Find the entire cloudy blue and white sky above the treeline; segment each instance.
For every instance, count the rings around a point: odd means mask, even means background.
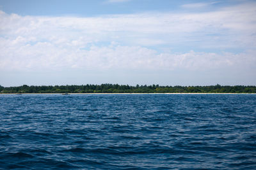
[[[256,1],[0,0],[0,85],[256,85]]]

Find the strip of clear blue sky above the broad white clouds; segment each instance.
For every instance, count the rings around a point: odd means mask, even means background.
[[[218,6],[228,6],[239,3],[239,1],[172,1],[172,0],[120,0],[120,1],[83,1],[83,0],[54,0],[54,1],[33,1],[33,0],[7,0],[1,1],[2,10],[6,13],[17,13],[19,15],[77,15],[91,17],[109,14],[141,13],[141,11],[188,11],[183,8],[184,4],[214,4],[210,9]],[[204,6],[205,7],[205,6]],[[208,8],[208,9],[209,9]],[[191,9],[189,9],[191,10]],[[194,9],[195,10],[195,9]],[[198,9],[197,9],[198,10]],[[206,9],[199,9],[204,11]]]

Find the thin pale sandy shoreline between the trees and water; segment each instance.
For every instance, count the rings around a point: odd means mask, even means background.
[[[2,95],[22,95],[22,94],[12,93],[12,94],[2,94]],[[38,95],[38,94],[63,95],[62,93],[24,93],[24,94],[25,95],[28,95],[28,94],[33,94],[33,95]],[[68,93],[68,95],[79,95],[79,94],[80,95],[86,95],[86,94],[91,95],[91,94],[256,94],[256,93]]]

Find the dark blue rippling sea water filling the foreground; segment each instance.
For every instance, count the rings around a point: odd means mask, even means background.
[[[256,169],[256,95],[1,95],[0,169]]]

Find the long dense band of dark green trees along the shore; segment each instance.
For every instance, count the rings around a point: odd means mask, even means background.
[[[3,87],[0,94],[16,93],[256,93],[256,86],[159,86],[159,85],[55,85]]]

